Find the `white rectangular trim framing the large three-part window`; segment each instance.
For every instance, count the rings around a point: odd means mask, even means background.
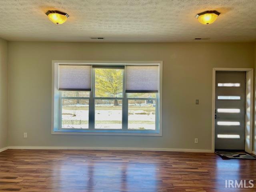
[[[159,65],[159,133],[134,133],[134,132],[74,132],[74,131],[57,131],[56,126],[58,126],[59,122],[54,122],[54,119],[58,119],[58,114],[55,112],[55,108],[58,108],[59,103],[56,102],[56,97],[58,100],[58,73],[55,73],[58,70],[59,63],[64,64],[93,64],[93,65]],[[120,136],[162,136],[162,61],[73,61],[73,60],[52,60],[52,134],[61,134],[61,135],[120,135]],[[55,106],[57,105],[57,106]],[[55,106],[55,107],[54,107]],[[56,117],[57,116],[57,117]]]

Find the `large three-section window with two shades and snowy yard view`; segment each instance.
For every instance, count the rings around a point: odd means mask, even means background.
[[[161,135],[161,62],[53,62],[52,134]]]

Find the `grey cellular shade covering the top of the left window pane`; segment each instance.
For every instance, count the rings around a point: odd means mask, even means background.
[[[59,90],[91,91],[92,66],[59,65]]]

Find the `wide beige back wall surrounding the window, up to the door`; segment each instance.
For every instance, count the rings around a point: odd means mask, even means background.
[[[163,136],[51,135],[52,60],[162,60]],[[9,146],[211,150],[214,67],[253,68],[254,44],[10,42]]]

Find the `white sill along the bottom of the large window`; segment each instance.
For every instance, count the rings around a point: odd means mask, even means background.
[[[162,136],[162,133],[158,132],[145,132],[145,131],[136,131],[136,132],[110,132],[107,130],[98,130],[98,132],[90,130],[82,131],[70,131],[70,130],[56,130],[52,131],[52,135],[119,135],[119,136]]]

